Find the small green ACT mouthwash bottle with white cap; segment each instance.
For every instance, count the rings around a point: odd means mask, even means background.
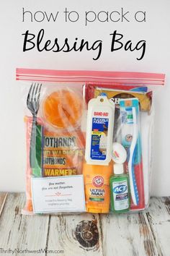
[[[122,163],[114,164],[114,175],[109,179],[111,193],[111,211],[125,213],[130,208],[128,175],[124,174]]]

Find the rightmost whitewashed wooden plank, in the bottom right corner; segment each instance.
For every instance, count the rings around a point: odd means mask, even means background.
[[[146,216],[151,226],[158,255],[170,255],[170,197],[151,198]]]

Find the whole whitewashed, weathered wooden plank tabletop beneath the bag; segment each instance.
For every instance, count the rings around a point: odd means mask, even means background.
[[[122,215],[24,216],[24,201],[0,193],[0,255],[170,256],[170,197]]]

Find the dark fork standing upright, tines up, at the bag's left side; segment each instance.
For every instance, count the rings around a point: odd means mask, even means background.
[[[40,90],[42,84],[32,83],[27,95],[27,108],[32,114],[32,131],[30,141],[30,167],[36,166],[36,135],[37,135],[37,112],[40,107]]]

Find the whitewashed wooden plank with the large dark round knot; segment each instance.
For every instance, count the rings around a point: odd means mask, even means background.
[[[51,216],[48,249],[56,245],[57,249],[64,250],[64,255],[103,255],[99,216]]]

